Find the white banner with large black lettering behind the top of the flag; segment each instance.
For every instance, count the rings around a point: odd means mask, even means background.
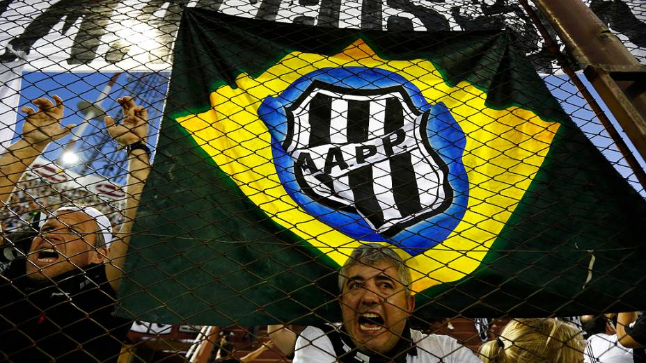
[[[643,61],[643,0],[586,0]],[[3,0],[0,62],[27,53],[26,70],[120,72],[169,70],[185,6],[241,17],[362,29],[473,30],[506,27],[543,72],[553,57],[521,6],[501,0]]]

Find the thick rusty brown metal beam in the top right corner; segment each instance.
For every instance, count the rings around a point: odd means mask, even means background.
[[[581,0],[534,0],[646,160],[646,67]]]

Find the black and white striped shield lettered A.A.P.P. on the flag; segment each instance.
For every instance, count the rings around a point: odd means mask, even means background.
[[[287,108],[283,144],[300,188],[392,236],[446,209],[447,166],[430,147],[428,113],[402,86],[357,90],[315,81]]]

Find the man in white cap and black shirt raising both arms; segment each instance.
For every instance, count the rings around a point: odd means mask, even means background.
[[[17,182],[47,145],[68,134],[61,126],[63,100],[24,107],[22,137],[0,156],[0,198],[7,202]],[[113,139],[129,160],[125,223],[111,223],[94,207],[56,209],[39,223],[28,253],[1,266],[0,357],[10,362],[116,362],[131,322],[113,316],[129,231],[150,170],[145,147],[148,114],[131,97],[118,99],[124,119],[106,118]],[[13,248],[7,245],[5,248]],[[3,254],[20,255],[20,254]]]

